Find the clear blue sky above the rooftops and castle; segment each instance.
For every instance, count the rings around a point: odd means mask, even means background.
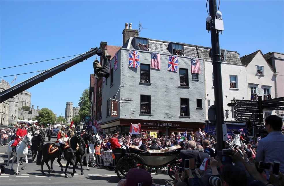
[[[222,49],[240,57],[261,50],[284,53],[284,1],[221,1]],[[206,1],[0,1],[0,67],[77,55],[101,41],[122,46],[126,22],[143,29],[141,37],[211,47],[205,30]],[[27,91],[32,105],[65,114],[77,106],[94,72],[91,57]],[[54,67],[70,58],[0,71],[0,76]],[[18,75],[16,83],[33,74]],[[4,80],[12,82],[14,76]],[[12,85],[14,85],[13,83]],[[134,90],[133,90],[134,91]]]

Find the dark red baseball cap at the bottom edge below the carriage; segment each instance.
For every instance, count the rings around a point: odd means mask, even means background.
[[[151,174],[143,169],[133,168],[126,174],[126,182],[124,186],[152,186]]]

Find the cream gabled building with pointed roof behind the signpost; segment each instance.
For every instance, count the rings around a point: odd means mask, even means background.
[[[274,69],[264,58],[260,50],[240,58],[246,65],[248,98],[258,100],[257,88],[263,90],[262,100],[275,98],[275,75]],[[273,110],[264,110],[264,118],[274,115]]]

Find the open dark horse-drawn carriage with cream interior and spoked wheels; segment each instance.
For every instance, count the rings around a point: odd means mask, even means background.
[[[182,147],[175,145],[162,150],[149,150],[143,151],[138,148],[138,146],[130,145],[129,152],[125,149],[115,149],[113,153],[115,158],[118,160],[115,172],[119,179],[126,177],[127,172],[132,168],[163,168],[168,166],[168,174],[174,179],[172,175],[172,170],[178,169],[177,155],[182,150]]]

